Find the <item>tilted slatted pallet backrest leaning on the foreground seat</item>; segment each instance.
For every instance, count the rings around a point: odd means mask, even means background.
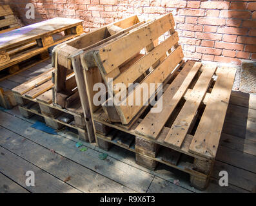
[[[155,92],[148,91],[148,98],[143,97],[141,93],[139,105],[130,106],[129,100],[133,93],[141,90],[144,84],[149,88],[152,82],[155,83],[157,91],[157,84],[165,82],[181,63],[182,48],[178,44],[179,37],[173,26],[175,23],[172,14],[163,15],[83,54],[84,69],[90,68],[91,59],[94,57],[95,66],[101,71],[104,83],[108,86],[110,99],[103,103],[103,109],[112,122],[129,124]],[[169,32],[170,36],[159,44],[159,37],[166,32]],[[146,54],[141,53],[143,49]],[[109,82],[110,78],[113,82]],[[128,93],[129,84],[136,82],[141,83],[141,86]],[[125,88],[121,90],[119,84]],[[126,97],[118,104],[117,98],[122,92]],[[132,98],[135,102],[135,96]],[[108,106],[109,101],[113,101],[114,108]]]

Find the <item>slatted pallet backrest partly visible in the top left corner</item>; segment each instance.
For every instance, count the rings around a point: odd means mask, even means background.
[[[0,5],[0,34],[20,28],[9,5]]]

